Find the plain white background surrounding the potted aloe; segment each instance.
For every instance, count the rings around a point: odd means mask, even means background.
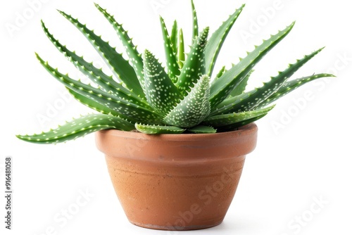
[[[35,12],[30,10],[32,1],[6,1],[0,9],[0,182],[4,185],[5,157],[12,156],[14,191],[13,230],[4,229],[1,219],[1,234],[179,234],[141,229],[127,221],[111,186],[103,154],[94,145],[94,135],[56,146],[27,144],[15,138],[15,134],[56,127],[89,112],[73,99],[63,99],[60,94],[65,94],[65,89],[37,62],[34,51],[61,71],[81,76],[46,39],[41,18],[63,44],[96,65],[102,64],[99,55],[56,8],[80,18],[118,50],[121,48],[92,1],[37,1],[41,4],[32,6]],[[200,27],[209,25],[213,30],[246,3],[217,68],[237,63],[254,44],[296,20],[289,36],[258,64],[251,85],[268,80],[288,63],[322,46],[326,46],[325,50],[294,77],[334,72],[337,78],[298,89],[257,122],[258,146],[248,155],[225,221],[213,229],[182,234],[352,234],[352,128],[347,111],[351,107],[352,15],[348,1],[194,1]],[[158,14],[168,25],[180,19],[189,42],[189,0],[97,2],[124,23],[139,51],[148,48],[163,60]],[[274,7],[275,11],[268,11]],[[22,24],[19,15],[27,17]],[[17,28],[11,32],[8,27]],[[4,186],[0,188],[5,191]],[[83,191],[90,197],[72,219],[64,221],[61,212],[77,209],[74,204]],[[324,202],[320,207],[315,205],[319,212],[313,213],[310,208],[316,200]],[[1,196],[1,217],[4,205]],[[302,216],[299,224],[296,220]]]

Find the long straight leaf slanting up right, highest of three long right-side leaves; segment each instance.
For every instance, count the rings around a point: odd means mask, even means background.
[[[210,87],[210,106],[212,110],[230,95],[232,90],[251,72],[256,63],[289,34],[292,27],[294,27],[294,23],[289,25],[285,30],[279,31],[279,33],[270,37],[270,39],[265,40],[260,46],[256,46],[256,49],[248,53],[246,58],[242,59],[237,65],[234,65],[212,84]]]

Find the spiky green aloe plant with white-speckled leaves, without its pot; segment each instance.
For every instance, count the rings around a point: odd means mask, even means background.
[[[95,6],[115,30],[128,60],[79,20],[63,11],[58,12],[82,32],[109,65],[113,76],[106,75],[101,68],[96,68],[93,63],[61,44],[43,21],[42,28],[54,46],[96,86],[74,80],[59,72],[37,53],[36,56],[77,101],[98,113],[84,115],[49,132],[18,135],[18,138],[39,144],[55,144],[101,129],[137,129],[146,134],[227,132],[263,118],[274,108],[272,102],[303,84],[320,77],[333,77],[329,74],[314,74],[289,80],[299,68],[322,51],[319,49],[289,64],[286,70],[271,77],[262,87],[246,90],[253,67],[289,34],[294,23],[264,40],[232,68],[223,67],[214,75],[222,44],[244,5],[208,37],[208,27],[199,31],[196,9],[191,1],[193,27],[188,53],[184,50],[183,32],[178,29],[177,21],[169,33],[161,17],[165,68],[151,51],[139,53],[127,31],[114,16],[98,4]]]

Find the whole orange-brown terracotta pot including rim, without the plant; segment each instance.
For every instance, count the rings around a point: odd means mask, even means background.
[[[104,130],[96,145],[132,224],[191,230],[224,220],[258,129],[217,134],[147,135]]]

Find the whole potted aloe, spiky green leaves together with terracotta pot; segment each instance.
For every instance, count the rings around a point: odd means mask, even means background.
[[[128,60],[79,20],[59,13],[84,34],[114,76],[63,46],[44,22],[43,30],[54,46],[95,85],[73,80],[36,55],[77,101],[98,113],[50,132],[18,138],[57,144],[96,132],[96,145],[106,155],[113,186],[130,222],[169,230],[220,224],[237,189],[246,154],[256,146],[253,122],[294,89],[321,77],[334,77],[314,74],[289,80],[322,49],[290,64],[262,87],[247,90],[254,66],[289,34],[294,23],[256,46],[236,65],[214,73],[222,44],[244,6],[208,37],[208,27],[199,32],[191,1],[194,20],[188,53],[177,21],[169,33],[160,18],[166,68],[150,51],[139,53],[113,15],[95,6],[115,29]]]

